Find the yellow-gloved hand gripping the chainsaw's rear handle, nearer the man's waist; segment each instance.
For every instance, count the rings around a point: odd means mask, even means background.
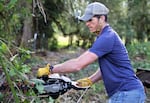
[[[92,81],[88,77],[77,80],[77,85],[80,87],[88,87],[91,86],[92,84],[93,84]]]

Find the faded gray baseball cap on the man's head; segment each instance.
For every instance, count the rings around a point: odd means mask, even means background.
[[[78,19],[81,21],[88,21],[94,15],[107,15],[109,9],[102,3],[94,2],[87,6],[85,9],[84,15],[79,17]]]

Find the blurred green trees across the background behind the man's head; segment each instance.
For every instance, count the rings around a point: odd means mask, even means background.
[[[44,48],[57,49],[56,41],[51,42],[49,39],[55,39],[55,34],[63,34],[70,38],[69,46],[80,46],[88,48],[94,41],[85,24],[77,20],[77,16],[83,14],[88,3],[95,0],[43,0],[43,8],[46,13],[47,23],[45,24],[43,15],[38,7],[35,9],[35,16],[38,19],[37,27],[33,26],[32,31],[38,32],[38,48],[41,48],[42,35],[45,34],[46,41]],[[104,3],[109,9],[108,22],[125,40],[130,44],[133,39],[150,40],[149,33],[149,0],[97,0]],[[0,37],[6,40],[14,41],[20,44],[22,37],[23,21],[26,17],[31,17],[32,0],[1,0],[0,1]],[[65,5],[65,6],[63,6]],[[143,12],[144,11],[144,12]],[[34,17],[33,17],[34,18]],[[34,23],[35,21],[33,21]],[[30,23],[31,24],[31,23]],[[55,26],[53,25],[55,24]],[[35,25],[35,23],[34,23]],[[58,28],[56,30],[56,28]],[[36,29],[36,30],[35,30]],[[75,36],[75,38],[73,38]],[[75,42],[72,42],[75,41]],[[51,42],[51,43],[48,43]],[[54,43],[54,44],[53,44]],[[72,44],[74,43],[74,44]]]

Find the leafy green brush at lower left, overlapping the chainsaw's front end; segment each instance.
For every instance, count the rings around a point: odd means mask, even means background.
[[[11,48],[16,48],[17,54],[13,55]],[[0,100],[3,102],[8,102],[11,100],[12,103],[41,103],[37,94],[33,91],[32,87],[30,89],[30,83],[35,84],[35,88],[38,90],[38,93],[44,93],[44,87],[42,83],[44,81],[39,79],[30,79],[29,75],[33,76],[31,68],[26,64],[31,59],[31,53],[29,50],[15,47],[14,45],[8,46],[7,43],[0,40],[0,66],[2,71],[6,76],[6,83],[8,83],[11,91],[0,92]],[[33,76],[34,77],[34,76]],[[27,92],[23,92],[21,88],[18,88],[18,83],[22,85],[29,86]],[[8,98],[8,96],[13,96],[13,98]],[[20,96],[21,95],[21,96]],[[45,102],[53,103],[52,98],[48,98]]]

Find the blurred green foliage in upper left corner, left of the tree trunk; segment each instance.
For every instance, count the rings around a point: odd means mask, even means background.
[[[0,0],[0,37],[7,41],[20,44],[23,28],[23,20],[31,15],[29,8],[25,8],[26,2],[32,0]]]

